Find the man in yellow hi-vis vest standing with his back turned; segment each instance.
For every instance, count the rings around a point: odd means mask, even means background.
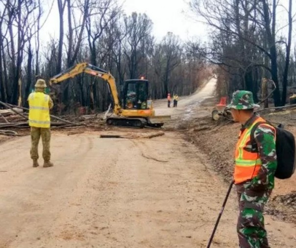
[[[29,94],[29,126],[31,127],[31,158],[33,167],[38,167],[38,144],[40,136],[43,144],[43,167],[51,167],[50,162],[50,115],[49,110],[53,102],[49,95],[44,93],[46,82],[38,79],[35,84],[35,92]]]

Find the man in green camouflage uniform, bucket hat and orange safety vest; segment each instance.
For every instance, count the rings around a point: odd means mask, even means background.
[[[237,223],[240,248],[269,248],[263,209],[274,187],[275,129],[254,114],[256,107],[259,106],[254,104],[252,92],[246,90],[235,91],[228,105],[234,121],[242,124],[234,172],[240,210]],[[252,142],[250,134],[256,122],[260,124]]]

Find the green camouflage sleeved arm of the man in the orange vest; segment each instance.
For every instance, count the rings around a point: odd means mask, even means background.
[[[274,173],[277,166],[274,130],[268,124],[261,124],[257,127],[254,138],[258,146],[262,166],[258,175],[251,181],[250,187],[254,190],[272,189],[274,187]]]

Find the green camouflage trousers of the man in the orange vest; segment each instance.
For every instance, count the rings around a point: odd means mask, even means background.
[[[237,232],[240,248],[270,248],[267,232],[264,227],[263,209],[267,203],[271,189],[248,189],[250,182],[237,184],[240,214]]]

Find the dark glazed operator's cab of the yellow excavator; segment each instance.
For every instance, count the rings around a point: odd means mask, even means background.
[[[146,110],[148,109],[149,81],[144,79],[125,80],[123,85],[123,109]]]

